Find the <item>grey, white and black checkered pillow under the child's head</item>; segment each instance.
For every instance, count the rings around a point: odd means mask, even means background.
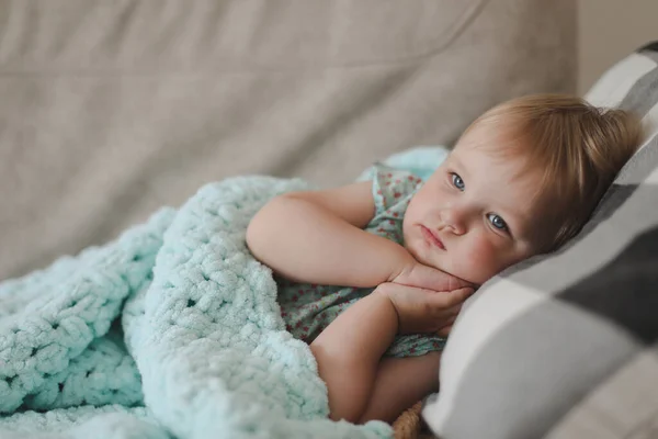
[[[658,438],[658,42],[586,98],[646,140],[578,237],[465,305],[423,408],[442,438]]]

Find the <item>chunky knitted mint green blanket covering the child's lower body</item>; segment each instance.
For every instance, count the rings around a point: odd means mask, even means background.
[[[305,188],[208,184],[114,243],[0,283],[0,437],[390,437],[327,419],[315,359],[246,247],[251,216]]]

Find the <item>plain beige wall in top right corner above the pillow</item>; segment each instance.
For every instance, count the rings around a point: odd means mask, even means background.
[[[578,0],[578,90],[638,46],[658,40],[658,0]]]

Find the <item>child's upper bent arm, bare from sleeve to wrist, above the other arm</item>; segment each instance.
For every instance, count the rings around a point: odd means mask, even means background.
[[[284,194],[252,218],[247,244],[293,281],[376,286],[415,260],[402,246],[363,230],[374,213],[372,181]]]

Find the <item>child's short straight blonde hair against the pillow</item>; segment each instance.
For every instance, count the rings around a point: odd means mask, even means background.
[[[551,237],[544,251],[574,237],[631,158],[640,137],[639,120],[619,109],[595,108],[568,94],[533,94],[487,111],[480,124],[511,123],[511,151],[542,169],[541,194],[553,196]],[[466,133],[465,132],[465,133]],[[555,227],[555,229],[553,229]]]

